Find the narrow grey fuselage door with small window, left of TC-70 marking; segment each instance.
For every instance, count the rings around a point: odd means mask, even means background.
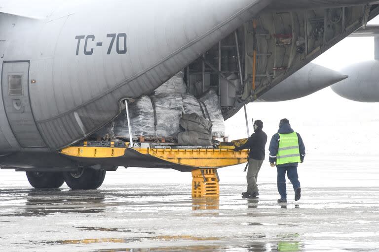
[[[28,61],[2,64],[2,98],[9,125],[19,144],[45,147],[29,99],[29,64]]]

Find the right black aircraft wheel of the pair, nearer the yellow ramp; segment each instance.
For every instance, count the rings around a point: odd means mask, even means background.
[[[65,172],[63,177],[71,189],[98,189],[103,184],[105,170],[81,168],[77,172]]]

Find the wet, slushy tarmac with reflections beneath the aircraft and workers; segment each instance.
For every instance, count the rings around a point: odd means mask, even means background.
[[[189,174],[188,183],[163,183],[178,174],[170,170],[150,172],[164,174],[162,183],[123,182],[146,170],[118,170],[89,191],[31,189],[24,174],[0,171],[1,251],[379,251],[377,168],[305,168],[302,199],[287,185],[287,204],[276,203],[269,168],[260,198],[241,199],[244,174],[237,167],[233,177],[235,169],[221,172],[220,199],[192,199]]]

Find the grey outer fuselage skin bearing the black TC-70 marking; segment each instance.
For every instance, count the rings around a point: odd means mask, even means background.
[[[123,99],[151,93],[265,10],[375,2],[92,0],[51,3],[41,19],[0,13],[0,165],[43,165],[42,154],[86,138],[120,113]]]

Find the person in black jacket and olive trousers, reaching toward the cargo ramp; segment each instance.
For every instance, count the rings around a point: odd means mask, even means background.
[[[259,195],[257,178],[265,160],[265,146],[267,142],[267,135],[262,129],[263,122],[261,120],[255,121],[254,134],[249,137],[245,144],[234,149],[234,151],[250,149],[249,169],[246,175],[247,191],[242,192],[242,198],[256,198]]]

